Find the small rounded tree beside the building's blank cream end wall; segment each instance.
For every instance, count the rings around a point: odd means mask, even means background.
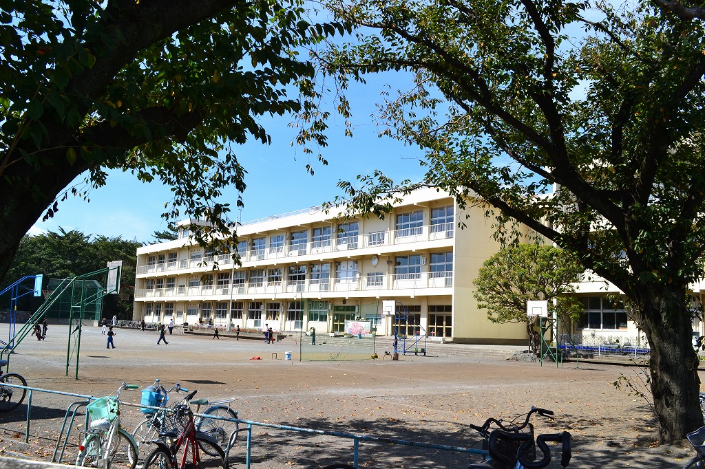
[[[553,246],[517,244],[487,259],[474,280],[474,297],[493,323],[525,323],[529,349],[539,349],[539,333],[527,317],[527,301],[547,300],[558,315],[577,318],[582,304],[572,283],[584,269],[570,253]],[[556,306],[553,306],[553,300]]]

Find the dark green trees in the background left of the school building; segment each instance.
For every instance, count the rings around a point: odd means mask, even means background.
[[[131,318],[135,299],[137,270],[137,241],[121,237],[85,235],[78,230],[47,232],[44,235],[23,237],[0,289],[25,275],[44,275],[44,286],[50,278],[63,279],[94,272],[106,267],[109,261],[123,261],[120,273],[120,292],[104,298],[104,308],[115,311],[120,318]],[[23,296],[20,309],[33,310],[42,304],[41,298]]]

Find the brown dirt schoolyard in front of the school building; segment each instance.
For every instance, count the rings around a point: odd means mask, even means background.
[[[537,406],[556,413],[553,421],[534,420],[537,434],[571,432],[570,468],[682,468],[694,456],[687,446],[658,446],[648,404],[615,388],[621,374],[639,380],[637,368],[582,363],[557,368],[444,354],[444,346],[434,347],[430,356],[399,361],[298,361],[295,338],[268,345],[176,330],[166,336],[168,345],[157,345],[157,332],[117,330],[116,349],[106,349],[100,328],[85,327],[75,379],[73,346],[66,375],[68,334],[68,327],[50,325],[44,342],[27,337],[11,356],[10,371],[24,375],[31,387],[92,396],[114,393],[123,381],[146,387],[159,378],[166,387],[180,382],[198,389],[197,397],[233,397],[244,420],[463,447],[478,447],[468,424],[511,419]],[[0,337],[7,335],[7,325],[0,325]],[[285,351],[293,352],[293,360],[284,360]],[[384,350],[377,353],[384,356]],[[257,356],[261,359],[251,359]],[[124,391],[121,397],[140,402],[140,392]],[[0,414],[0,455],[51,461],[66,408],[75,400],[34,392],[28,445],[26,406]],[[132,430],[141,417],[138,408],[125,407],[123,424]],[[75,460],[79,430],[72,430],[63,462]],[[231,468],[245,467],[244,451],[243,438],[231,453]],[[549,467],[560,467],[556,459]],[[321,468],[352,460],[351,439],[269,427],[252,432],[253,468]],[[362,468],[465,468],[467,461],[466,454],[450,451],[360,444]]]

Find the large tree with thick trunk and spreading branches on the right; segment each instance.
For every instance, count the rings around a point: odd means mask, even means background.
[[[651,346],[661,442],[702,425],[688,285],[704,275],[704,25],[647,2],[328,5],[366,28],[321,55],[343,113],[349,80],[413,73],[380,120],[427,151],[421,183],[486,204],[498,230],[528,226],[621,289]],[[377,173],[341,187],[353,208],[384,211],[414,184]]]

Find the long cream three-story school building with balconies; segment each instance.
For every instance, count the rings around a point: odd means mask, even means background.
[[[382,303],[395,300],[407,335],[525,343],[523,325],[491,323],[472,296],[479,268],[499,249],[484,208],[461,209],[429,188],[405,196],[384,219],[341,213],[314,207],[241,223],[242,265],[190,240],[188,225],[202,222],[178,223],[178,239],[137,249],[133,318],[318,332],[368,320],[376,334],[391,335],[399,325]]]

